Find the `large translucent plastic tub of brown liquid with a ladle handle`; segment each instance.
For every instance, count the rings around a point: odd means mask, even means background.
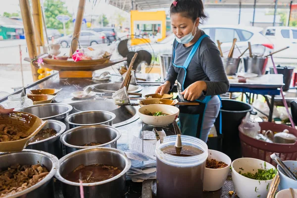
[[[174,156],[171,154],[175,154],[176,137],[167,136],[162,144],[158,141],[156,145],[157,198],[200,198],[208,156],[207,145],[198,138],[182,135],[181,154],[194,156]]]

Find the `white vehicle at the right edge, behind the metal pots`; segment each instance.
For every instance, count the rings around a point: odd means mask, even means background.
[[[297,58],[297,28],[294,27],[267,27],[265,36],[274,45],[274,49],[282,49],[289,46],[289,49],[280,51],[273,55],[279,58]]]

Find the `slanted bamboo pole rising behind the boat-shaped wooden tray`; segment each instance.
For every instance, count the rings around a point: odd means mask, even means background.
[[[73,36],[72,36],[72,39],[74,39],[74,38],[77,38],[77,39],[73,40],[72,46],[70,46],[69,56],[72,56],[72,53],[73,53],[72,48],[73,48],[73,51],[75,51],[77,49],[77,45],[78,45],[77,41],[79,39],[80,30],[81,30],[82,23],[83,23],[85,4],[86,4],[86,0],[79,0],[77,15],[76,15],[76,19],[75,19],[74,32],[73,32]]]

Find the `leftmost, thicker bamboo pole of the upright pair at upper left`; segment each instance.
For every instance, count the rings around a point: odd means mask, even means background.
[[[29,0],[19,0],[19,2],[20,2],[20,8],[21,8],[22,19],[24,24],[24,32],[25,32],[25,37],[27,42],[28,53],[30,58],[34,59],[37,56],[37,50],[36,50],[35,37],[33,32],[33,24],[32,24]],[[32,71],[34,82],[38,80],[37,70],[38,68],[31,63],[31,71]]]

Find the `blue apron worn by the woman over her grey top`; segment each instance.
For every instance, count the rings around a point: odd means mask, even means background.
[[[205,38],[208,37],[206,34],[202,35],[198,41],[194,44],[194,47],[192,48],[190,54],[188,55],[185,63],[183,66],[179,66],[174,64],[174,58],[175,58],[175,48],[173,50],[173,58],[172,58],[172,64],[175,67],[182,68],[178,72],[177,80],[178,82],[182,85],[182,91],[185,90],[184,84],[187,76],[187,68],[190,65],[190,62],[192,58],[194,57],[198,47],[201,44],[201,41]],[[204,118],[204,112],[207,107],[207,103],[211,99],[211,96],[206,96],[203,100],[196,100],[196,102],[199,102],[199,105],[179,105],[180,109],[180,114],[179,114],[179,119],[180,119],[180,126],[181,126],[181,131],[183,135],[188,135],[188,136],[193,136],[200,138],[200,132],[203,126],[203,118]],[[189,101],[191,102],[191,101]],[[221,134],[221,111],[219,112],[220,116],[220,134]]]

